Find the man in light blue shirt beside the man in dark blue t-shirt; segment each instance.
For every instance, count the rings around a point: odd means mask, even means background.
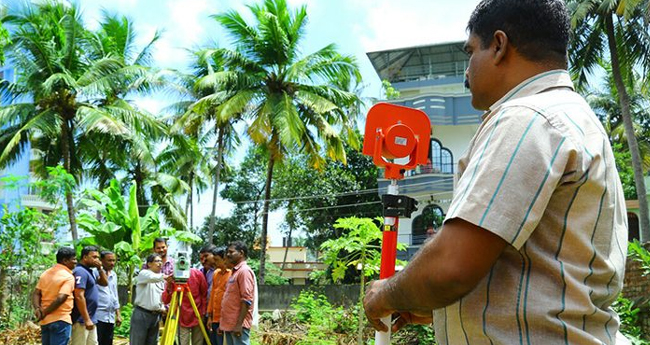
[[[117,274],[113,268],[117,262],[115,253],[103,251],[100,254],[102,267],[106,271],[108,286],[98,286],[99,300],[97,303],[97,340],[99,345],[113,345],[115,326],[120,326],[120,301],[117,294]]]

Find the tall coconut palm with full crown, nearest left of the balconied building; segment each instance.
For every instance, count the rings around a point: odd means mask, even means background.
[[[213,16],[234,38],[234,50],[221,50],[226,69],[203,79],[234,93],[222,111],[243,114],[247,133],[269,152],[262,214],[260,283],[264,283],[269,200],[273,168],[290,151],[304,152],[316,168],[323,154],[345,161],[344,142],[354,135],[355,118],[344,111],[357,97],[340,88],[341,80],[360,80],[353,57],[333,44],[301,56],[306,7],[290,10],[285,0],[266,0],[249,9],[254,23],[236,11]]]

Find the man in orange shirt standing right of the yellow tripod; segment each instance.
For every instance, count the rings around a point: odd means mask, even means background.
[[[212,291],[208,299],[208,329],[212,345],[223,345],[223,333],[218,332],[221,320],[221,301],[232,271],[226,267],[226,248],[214,247],[211,252],[212,256],[208,259],[208,263],[216,269],[212,276]]]

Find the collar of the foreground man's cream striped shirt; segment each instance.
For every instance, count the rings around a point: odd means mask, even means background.
[[[508,91],[508,93],[501,97],[501,99],[496,101],[490,109],[483,114],[483,118],[507,101],[535,95],[558,87],[565,87],[574,90],[571,76],[566,70],[556,69],[534,75],[522,81],[519,85],[512,88],[512,90]]]

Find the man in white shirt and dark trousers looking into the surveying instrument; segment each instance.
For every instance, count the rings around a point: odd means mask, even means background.
[[[162,293],[165,280],[170,276],[162,273],[163,261],[158,254],[147,257],[147,269],[140,271],[135,278],[135,301],[131,315],[131,345],[152,345],[158,343],[161,314],[165,311]]]

